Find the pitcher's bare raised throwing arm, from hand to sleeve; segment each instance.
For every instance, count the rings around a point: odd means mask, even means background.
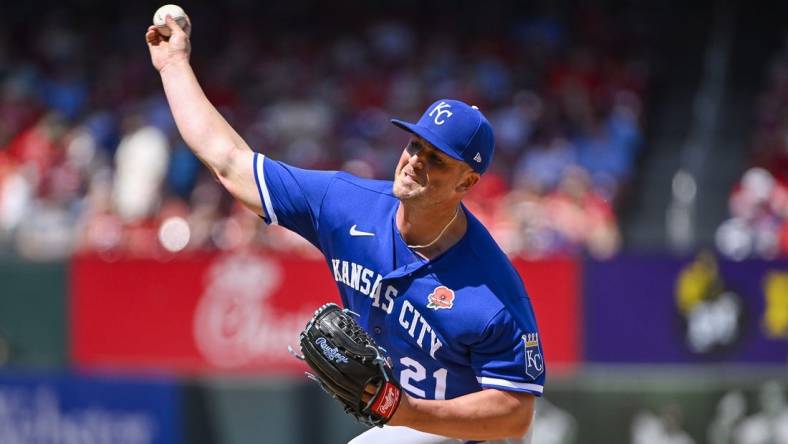
[[[187,20],[184,31],[167,16],[167,26],[169,38],[150,26],[145,40],[181,137],[233,197],[262,215],[252,165],[254,153],[208,101],[189,64],[187,33],[191,22]]]

